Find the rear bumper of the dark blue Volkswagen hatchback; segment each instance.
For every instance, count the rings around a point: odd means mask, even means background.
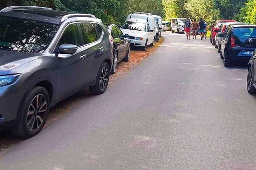
[[[252,57],[252,55],[247,55],[244,54],[243,51],[254,51],[255,48],[240,48],[240,47],[235,47],[229,50],[229,55],[228,58],[230,60],[244,60],[244,61],[249,61]]]

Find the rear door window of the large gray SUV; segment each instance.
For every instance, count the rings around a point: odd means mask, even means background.
[[[96,42],[98,40],[96,30],[92,23],[80,23],[84,44]]]

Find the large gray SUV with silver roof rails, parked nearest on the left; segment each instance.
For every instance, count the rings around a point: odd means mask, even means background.
[[[36,6],[0,11],[0,128],[38,134],[59,101],[106,91],[113,39],[94,15]]]

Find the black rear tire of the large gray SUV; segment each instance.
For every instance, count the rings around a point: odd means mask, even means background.
[[[107,69],[107,72],[105,72],[105,69]],[[104,75],[103,75],[104,73]],[[103,78],[102,78],[103,77]],[[107,78],[107,81],[102,81],[100,82],[101,79]],[[90,92],[92,92],[95,95],[100,95],[104,93],[108,87],[108,81],[109,81],[109,65],[106,62],[103,62],[100,65],[100,69],[98,71],[97,79],[96,79],[96,84],[94,86],[90,86]],[[105,85],[103,88],[101,85]]]

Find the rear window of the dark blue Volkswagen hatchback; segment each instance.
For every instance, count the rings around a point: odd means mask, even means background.
[[[256,37],[256,28],[233,28],[232,35],[238,38]]]

